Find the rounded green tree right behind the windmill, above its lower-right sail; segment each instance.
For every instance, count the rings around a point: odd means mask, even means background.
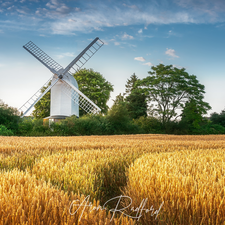
[[[110,98],[110,92],[113,91],[113,85],[92,69],[81,69],[73,76],[77,80],[79,90],[106,114],[109,108],[106,103]],[[83,114],[86,113],[80,110],[80,116]]]

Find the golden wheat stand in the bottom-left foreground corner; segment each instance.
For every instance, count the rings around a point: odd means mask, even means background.
[[[78,201],[79,200],[79,201]],[[90,207],[79,207],[73,201],[82,203],[85,196],[71,194],[37,180],[26,172],[14,169],[0,174],[0,224],[130,224],[125,217],[111,220],[105,209],[95,210],[99,202]],[[87,205],[89,202],[87,201]],[[110,222],[111,220],[111,222]]]

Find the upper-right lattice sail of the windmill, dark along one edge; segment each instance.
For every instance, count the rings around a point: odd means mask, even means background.
[[[95,38],[63,71],[71,75],[78,72],[81,67],[104,45],[99,39]]]

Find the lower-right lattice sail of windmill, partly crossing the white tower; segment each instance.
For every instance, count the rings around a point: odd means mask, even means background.
[[[62,82],[62,89],[68,95],[71,96],[74,103],[78,104],[85,112],[97,114],[101,112],[101,109],[92,102],[86,95],[79,91],[74,85],[65,80]]]

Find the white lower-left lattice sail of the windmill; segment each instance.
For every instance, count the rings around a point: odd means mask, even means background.
[[[50,84],[53,77],[51,77],[24,105],[19,108],[19,112],[23,113],[23,118],[32,107],[58,82],[59,78]],[[42,93],[43,88],[46,88]]]

